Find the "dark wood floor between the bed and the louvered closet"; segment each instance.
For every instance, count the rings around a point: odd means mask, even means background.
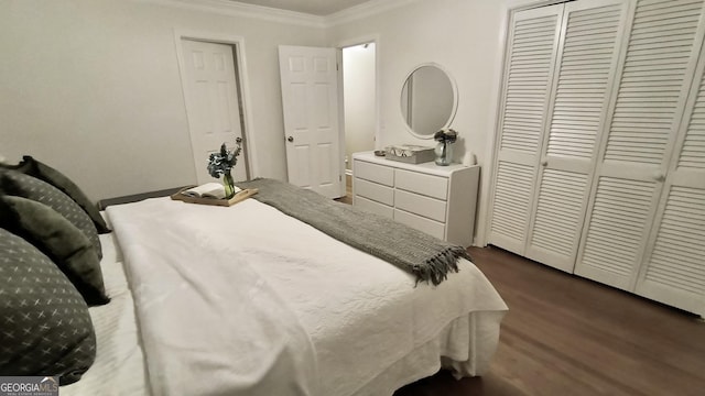
[[[705,322],[519,257],[468,250],[509,306],[484,377],[438,374],[394,396],[705,395]]]

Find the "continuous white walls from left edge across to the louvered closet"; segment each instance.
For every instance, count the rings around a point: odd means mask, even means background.
[[[245,37],[259,176],[286,178],[276,46],[376,37],[378,141],[412,136],[400,111],[404,77],[434,62],[453,76],[459,106],[455,155],[482,165],[494,139],[506,2],[416,0],[327,29],[154,4],[156,0],[0,1],[0,154],[32,154],[94,199],[195,183],[174,30]],[[187,2],[184,2],[187,3]],[[478,210],[477,234],[485,212]]]

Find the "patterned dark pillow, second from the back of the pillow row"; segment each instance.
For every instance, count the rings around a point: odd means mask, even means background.
[[[0,169],[0,193],[29,198],[56,210],[86,234],[96,249],[98,257],[102,258],[98,231],[90,217],[80,209],[78,204],[56,187],[17,170]]]

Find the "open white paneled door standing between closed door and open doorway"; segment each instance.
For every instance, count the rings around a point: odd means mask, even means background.
[[[289,183],[345,195],[335,48],[280,46]]]

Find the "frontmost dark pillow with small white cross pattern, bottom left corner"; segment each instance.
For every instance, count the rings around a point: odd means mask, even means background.
[[[80,380],[96,359],[88,306],[48,257],[3,229],[0,296],[0,376]]]

